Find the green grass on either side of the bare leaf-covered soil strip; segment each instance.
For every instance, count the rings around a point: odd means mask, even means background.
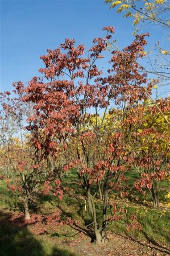
[[[74,172],[71,175],[74,176]],[[139,174],[131,171],[127,174],[127,177],[129,179],[128,184],[132,187]],[[66,176],[65,180],[69,181],[69,176]],[[168,180],[160,183],[160,200],[162,202],[166,200],[165,194],[168,191],[168,185]],[[77,185],[75,186],[77,187]],[[63,210],[65,216],[72,217],[74,220],[81,220],[85,225],[89,224],[90,217],[87,216],[87,212],[84,209],[84,197],[80,196],[77,199],[78,193],[71,193],[72,196],[65,195],[63,200],[58,200],[53,195],[39,195],[39,213],[51,213],[58,207]],[[143,196],[139,192],[135,192],[135,196],[139,197],[138,202],[118,198],[120,207],[128,210],[127,217],[123,217],[120,222],[113,221],[108,229],[115,233],[133,236],[139,241],[150,241],[155,245],[168,246],[170,241],[169,209],[161,208],[158,210],[152,208],[152,199],[149,193]],[[9,193],[6,191],[5,181],[0,180],[0,210],[8,207],[8,197]],[[143,205],[144,200],[147,201],[146,205]],[[130,230],[130,232],[127,232],[126,224],[129,222],[131,214],[136,214],[138,222],[142,225],[142,230]],[[48,236],[35,237],[27,227],[20,228],[9,222],[4,222],[2,221],[3,217],[0,217],[0,256],[76,256],[68,249],[62,249],[57,246],[57,241],[72,237],[75,230],[69,226],[61,227],[59,230],[49,233]]]

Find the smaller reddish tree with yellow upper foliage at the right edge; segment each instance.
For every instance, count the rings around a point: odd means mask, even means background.
[[[161,112],[169,119],[169,98],[156,102]],[[159,208],[159,183],[169,173],[169,126],[154,104],[140,106],[143,109],[142,121],[133,134],[133,163],[141,179],[135,187],[142,191],[148,189],[152,195],[154,207]]]

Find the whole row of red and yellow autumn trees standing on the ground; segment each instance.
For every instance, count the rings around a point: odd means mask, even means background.
[[[132,193],[127,172],[135,168],[140,174],[134,187],[142,193],[148,189],[155,207],[159,182],[169,172],[170,101],[150,100],[156,81],[148,80],[137,62],[148,34],[113,51],[106,76],[97,65],[114,28],[103,31],[105,38],[94,39],[86,55],[84,46],[69,39],[48,49],[41,57],[42,77],[26,88],[14,83],[13,98],[10,92],[1,94],[0,119],[1,171],[26,219],[39,191],[52,191],[62,200],[76,184],[88,203],[89,229],[97,243],[105,241],[109,222],[121,218],[113,192]]]

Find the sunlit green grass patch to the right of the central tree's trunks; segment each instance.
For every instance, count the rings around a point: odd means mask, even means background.
[[[123,206],[123,204],[122,204]],[[142,230],[127,231],[125,222],[127,218],[123,218],[123,222],[113,222],[110,229],[119,234],[133,236],[137,240],[147,240],[155,245],[168,246],[170,241],[170,216],[167,210],[156,210],[154,208],[144,207],[142,205],[128,204],[124,205],[130,214],[136,214],[137,220],[142,225]]]

